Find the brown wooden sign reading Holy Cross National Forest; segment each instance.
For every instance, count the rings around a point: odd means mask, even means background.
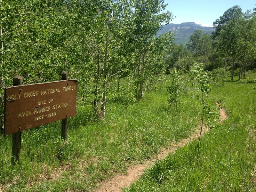
[[[75,116],[76,90],[76,79],[5,88],[4,135]]]

